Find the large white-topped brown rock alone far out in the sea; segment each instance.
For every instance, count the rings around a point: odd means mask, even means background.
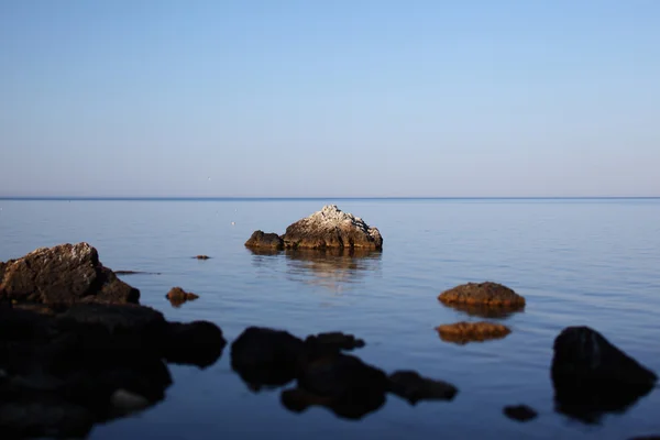
[[[383,249],[381,232],[364,220],[342,212],[336,205],[290,224],[282,237],[285,248],[358,248]]]

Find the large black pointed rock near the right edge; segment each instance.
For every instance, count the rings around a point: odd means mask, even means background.
[[[588,327],[568,327],[554,340],[552,384],[558,411],[585,422],[625,411],[658,376]]]

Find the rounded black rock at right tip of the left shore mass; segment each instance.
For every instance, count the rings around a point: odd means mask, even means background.
[[[222,330],[211,322],[169,323],[165,359],[170,363],[194,364],[201,369],[216,363],[227,341]]]

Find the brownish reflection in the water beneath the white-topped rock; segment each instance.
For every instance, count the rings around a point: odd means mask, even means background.
[[[381,252],[348,249],[285,251],[287,274],[302,283],[340,290],[381,266]]]

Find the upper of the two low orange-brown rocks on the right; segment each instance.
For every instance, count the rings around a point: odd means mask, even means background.
[[[502,284],[468,283],[444,290],[438,299],[446,305],[465,304],[488,307],[525,307],[525,298]]]

